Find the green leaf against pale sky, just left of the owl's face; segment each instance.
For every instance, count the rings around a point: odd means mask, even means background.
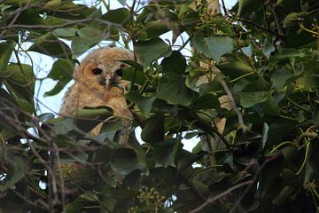
[[[58,81],[51,91],[44,93],[44,97],[53,96],[63,90],[72,79],[75,63],[67,59],[58,59],[54,62],[48,77]]]

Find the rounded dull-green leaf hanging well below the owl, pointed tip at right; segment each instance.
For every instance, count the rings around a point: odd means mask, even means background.
[[[144,170],[144,165],[137,160],[136,153],[129,148],[115,150],[110,163],[114,171],[125,176],[134,170]]]

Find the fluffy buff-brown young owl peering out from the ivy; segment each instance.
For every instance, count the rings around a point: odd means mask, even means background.
[[[109,106],[128,127],[132,114],[123,92],[128,82],[121,80],[122,69],[127,65],[121,60],[133,59],[131,51],[118,47],[104,47],[91,52],[75,68],[74,84],[66,91],[59,115],[72,117],[84,106]],[[101,127],[102,123],[90,134],[97,135]]]

